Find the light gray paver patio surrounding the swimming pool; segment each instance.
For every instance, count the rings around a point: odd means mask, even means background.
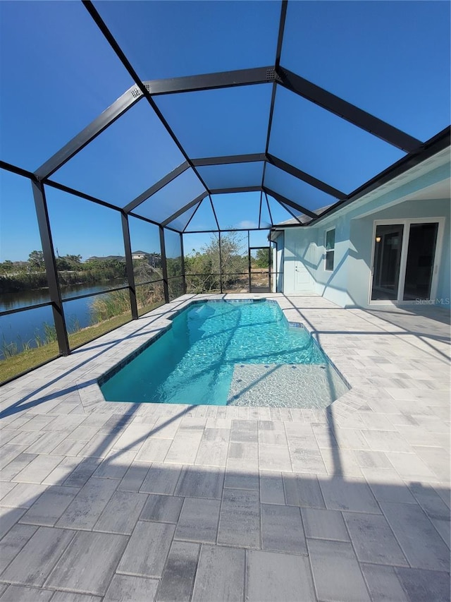
[[[189,295],[2,387],[1,602],[450,600],[449,313],[266,297],[328,409],[102,401]]]

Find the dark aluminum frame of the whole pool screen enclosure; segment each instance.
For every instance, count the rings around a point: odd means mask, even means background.
[[[331,215],[334,212],[340,210],[342,207],[349,205],[354,200],[357,200],[361,198],[364,194],[369,193],[369,191],[378,188],[378,186],[381,186],[383,183],[390,181],[396,176],[402,174],[404,171],[407,171],[407,169],[410,169],[414,165],[419,164],[420,162],[424,161],[424,159],[431,157],[436,152],[439,152],[440,150],[443,150],[443,148],[446,148],[450,145],[451,137],[449,127],[445,128],[443,131],[438,133],[430,140],[423,142],[421,140],[418,140],[417,138],[414,138],[414,136],[410,136],[408,133],[401,131],[399,128],[395,128],[394,126],[386,123],[385,121],[378,119],[376,116],[373,116],[368,112],[359,109],[359,107],[354,106],[350,102],[347,102],[341,99],[340,97],[333,95],[327,90],[324,90],[318,85],[310,82],[305,78],[302,78],[301,76],[297,75],[297,73],[293,73],[292,71],[288,70],[283,65],[281,65],[280,56],[283,47],[283,37],[285,31],[285,20],[287,15],[288,0],[282,0],[281,2],[280,19],[278,23],[278,38],[276,44],[276,56],[273,65],[149,81],[140,80],[139,76],[137,75],[137,72],[133,68],[128,57],[125,55],[117,40],[112,35],[109,28],[106,26],[106,23],[104,23],[104,20],[101,18],[97,9],[94,7],[94,4],[92,4],[92,1],[82,0],[82,3],[84,4],[89,15],[94,20],[94,23],[96,23],[97,27],[104,35],[106,41],[110,44],[111,48],[116,53],[116,56],[118,56],[118,59],[121,61],[121,63],[128,71],[129,75],[135,83],[128,90],[125,90],[125,92],[123,92],[123,95],[121,95],[121,97],[119,97],[115,102],[113,102],[113,104],[111,104],[110,107],[108,107],[104,112],[97,116],[97,118],[94,119],[94,121],[92,121],[82,131],[80,131],[80,133],[78,133],[75,137],[69,140],[68,143],[66,143],[66,145],[64,145],[60,150],[54,153],[54,155],[49,157],[49,159],[47,159],[47,161],[45,161],[34,172],[27,171],[25,169],[22,169],[12,164],[8,164],[6,162],[0,162],[0,167],[2,169],[6,169],[7,171],[11,171],[12,173],[16,173],[20,176],[23,176],[29,179],[31,183],[32,194],[35,200],[37,222],[39,225],[39,234],[42,241],[42,251],[44,253],[44,263],[47,272],[47,280],[49,283],[50,294],[49,303],[41,303],[39,304],[39,306],[51,305],[52,307],[60,354],[69,354],[70,346],[68,342],[68,330],[66,320],[64,318],[63,313],[63,299],[61,296],[61,289],[59,287],[58,282],[56,258],[54,254],[54,246],[52,243],[51,227],[49,223],[47,201],[45,197],[45,186],[56,188],[60,191],[69,193],[78,198],[89,200],[92,203],[97,203],[99,205],[119,212],[119,214],[121,215],[123,243],[125,249],[125,265],[127,272],[127,284],[124,288],[127,288],[130,294],[130,309],[132,313],[132,319],[137,319],[137,285],[135,284],[135,278],[133,275],[129,217],[142,219],[144,222],[149,222],[151,224],[156,225],[159,228],[161,265],[163,272],[163,291],[164,299],[166,302],[168,302],[169,288],[166,261],[166,245],[164,240],[165,229],[174,231],[180,235],[183,289],[186,291],[183,234],[195,233],[194,230],[188,230],[187,228],[189,227],[194,215],[196,215],[197,210],[199,210],[199,207],[202,205],[202,203],[206,202],[207,197],[209,198],[209,203],[214,214],[217,229],[202,231],[202,234],[208,234],[209,232],[218,233],[218,246],[221,269],[221,233],[226,231],[247,231],[249,241],[249,231],[251,231],[252,229],[221,229],[220,224],[218,222],[218,217],[216,215],[212,195],[223,193],[260,191],[261,197],[259,205],[259,227],[257,228],[257,230],[268,230],[267,227],[261,228],[261,210],[264,203],[266,203],[268,215],[271,219],[271,228],[276,227],[276,224],[274,224],[273,222],[273,216],[271,215],[271,207],[268,202],[268,195],[271,195],[271,197],[276,201],[276,203],[282,206],[284,210],[288,211],[292,215],[292,217],[295,217],[295,219],[297,219],[298,224],[292,224],[293,227],[306,227],[307,224],[304,224],[299,220],[299,214],[307,215],[308,217],[310,217],[311,221],[309,222],[309,224],[319,222],[319,220],[323,219],[323,217]],[[180,140],[173,132],[171,125],[168,123],[168,121],[166,121],[166,118],[163,116],[161,110],[159,109],[154,100],[154,98],[162,95],[184,93],[189,94],[190,92],[199,92],[202,90],[218,90],[223,88],[235,88],[240,86],[264,84],[271,85],[272,90],[271,103],[268,114],[268,127],[266,130],[265,148],[262,149],[263,152],[259,153],[225,155],[218,157],[190,157],[190,155],[180,143]],[[314,176],[311,176],[311,174],[308,174],[307,172],[298,169],[297,167],[289,164],[288,162],[283,161],[283,159],[280,159],[279,157],[276,157],[275,155],[271,154],[269,150],[271,130],[273,127],[273,114],[276,103],[276,91],[278,90],[278,86],[285,88],[286,90],[289,90],[290,92],[299,95],[304,99],[309,100],[309,102],[316,104],[322,109],[325,109],[327,112],[339,116],[341,119],[344,119],[350,124],[353,124],[354,126],[357,126],[358,128],[371,133],[373,136],[376,136],[376,138],[383,140],[385,143],[388,143],[389,145],[392,145],[393,147],[406,152],[407,155],[402,157],[402,159],[400,159],[399,161],[395,162],[395,164],[383,170],[380,174],[374,176],[372,179],[362,184],[362,186],[359,186],[359,188],[357,188],[351,193],[345,193],[343,191],[338,190],[338,188],[330,186],[330,184],[328,184],[325,181],[316,179]],[[149,106],[152,107],[152,110],[159,118],[159,121],[166,129],[168,136],[170,136],[170,138],[173,140],[173,143],[175,143],[175,146],[180,151],[181,155],[183,155],[183,158],[185,160],[181,164],[179,164],[178,167],[175,167],[175,169],[163,176],[163,178],[161,178],[159,181],[152,184],[152,186],[149,186],[149,188],[147,188],[146,191],[143,191],[136,198],[130,199],[124,207],[118,207],[116,205],[113,205],[112,203],[109,203],[109,201],[106,199],[102,200],[100,198],[96,198],[82,191],[78,191],[74,188],[70,188],[69,186],[65,186],[63,183],[60,183],[55,179],[51,179],[52,176],[54,176],[54,178],[56,177],[57,179],[56,172],[58,171],[58,169],[63,167],[64,164],[66,164],[68,161],[70,161],[70,159],[75,157],[75,155],[77,155],[82,149],[89,145],[89,143],[91,143],[92,140],[97,138],[97,136],[101,135],[101,133],[103,133],[106,130],[106,128],[109,128],[109,126],[114,124],[118,119],[121,118],[121,116],[123,116],[123,114],[128,112],[128,110],[134,107],[138,102],[147,102]],[[252,186],[231,185],[221,188],[212,188],[207,186],[207,183],[204,181],[204,179],[202,178],[202,174],[199,171],[199,168],[206,166],[232,165],[252,162],[263,163],[261,180],[259,180]],[[287,198],[285,195],[281,194],[277,190],[273,190],[273,188],[266,186],[265,176],[266,168],[268,165],[272,165],[283,171],[285,174],[289,174],[297,180],[303,181],[309,184],[309,186],[316,188],[322,193],[330,195],[330,197],[335,199],[336,202],[333,203],[333,205],[329,207],[326,211],[321,213],[321,215],[318,215],[317,213],[309,210],[307,207],[304,207],[304,205],[302,204],[302,200],[299,200],[297,198]],[[169,183],[174,181],[178,176],[187,171],[187,169],[192,170],[192,172],[197,176],[197,179],[199,179],[199,183],[201,183],[204,188],[204,192],[202,192],[200,195],[197,195],[197,197],[192,200],[187,200],[186,203],[184,200],[178,208],[178,210],[175,210],[175,212],[166,217],[166,219],[163,219],[163,221],[161,222],[139,215],[139,207],[140,205],[142,205],[142,203],[147,201],[149,198],[152,198],[152,195],[158,193],[161,189],[164,188],[164,186],[167,186]],[[187,220],[185,227],[183,227],[182,229],[171,227],[171,223],[174,222],[175,219],[178,219],[178,217],[181,217],[185,212],[191,210],[193,207],[194,212],[192,212],[190,219]],[[222,292],[222,269],[220,279]],[[67,300],[64,299],[64,301]],[[24,311],[25,309],[27,308],[19,308],[16,311]],[[8,312],[1,312],[0,315],[6,315],[8,313],[13,312],[13,310]]]

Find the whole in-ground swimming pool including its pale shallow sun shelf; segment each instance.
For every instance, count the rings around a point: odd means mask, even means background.
[[[348,390],[275,301],[194,302],[139,351],[99,381],[107,401],[325,407]]]

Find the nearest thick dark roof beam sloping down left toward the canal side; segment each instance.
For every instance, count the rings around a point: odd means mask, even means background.
[[[72,140],[58,150],[50,159],[38,167],[35,176],[39,180],[45,180],[51,176],[57,169],[62,167],[69,159],[76,155],[82,148],[85,148],[94,138],[97,138],[108,126],[119,119],[128,109],[130,109],[138,100],[142,98],[142,92],[136,85],[132,85],[121,97],[118,98],[111,107],[108,107],[101,113],[89,126],[86,126]]]

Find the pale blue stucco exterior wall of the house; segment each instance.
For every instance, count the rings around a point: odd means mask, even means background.
[[[367,306],[371,282],[373,222],[376,219],[414,219],[445,217],[443,247],[440,253],[436,297],[449,306],[450,292],[450,205],[449,199],[402,200],[449,177],[449,163],[381,193],[371,203],[350,205],[331,215],[316,227],[285,230],[284,291],[298,292],[295,278],[296,248],[311,273],[314,291],[340,306]],[[335,227],[333,272],[325,267],[325,233]]]

